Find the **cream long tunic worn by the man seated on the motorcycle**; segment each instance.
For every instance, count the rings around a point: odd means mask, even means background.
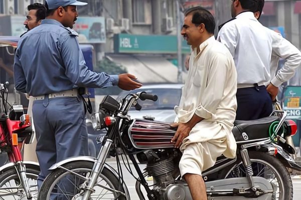
[[[181,102],[175,108],[179,122],[188,122],[194,114],[204,118],[191,131],[197,134],[186,137],[181,148],[189,143],[220,139],[224,133],[224,154],[235,156],[236,141],[231,131],[237,108],[236,89],[234,60],[229,50],[212,36],[200,45],[198,54],[197,48],[192,52]],[[210,132],[206,132],[209,127]]]

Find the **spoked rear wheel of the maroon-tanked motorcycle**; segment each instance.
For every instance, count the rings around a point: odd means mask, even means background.
[[[274,156],[264,152],[249,151],[253,176],[264,177],[273,187],[272,200],[292,200],[292,182],[283,164]],[[241,161],[223,174],[224,178],[244,177],[245,169]]]

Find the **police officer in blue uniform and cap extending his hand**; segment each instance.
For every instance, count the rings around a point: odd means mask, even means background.
[[[78,87],[139,88],[131,74],[108,75],[88,70],[72,30],[76,0],[46,0],[47,18],[20,39],[15,55],[16,89],[34,96],[40,186],[54,163],[88,155],[83,99]]]

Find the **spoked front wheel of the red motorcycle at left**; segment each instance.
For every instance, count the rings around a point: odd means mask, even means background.
[[[33,200],[38,196],[38,175],[40,171],[26,167],[26,176]],[[26,193],[15,168],[11,168],[0,175],[0,200],[25,200]]]

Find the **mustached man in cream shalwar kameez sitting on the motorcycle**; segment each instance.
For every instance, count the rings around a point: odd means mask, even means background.
[[[221,154],[234,158],[231,132],[236,111],[237,74],[229,50],[214,38],[215,21],[201,7],[185,12],[181,34],[192,46],[189,72],[174,126],[172,141],[183,151],[179,168],[194,200],[207,199],[202,171]]]

